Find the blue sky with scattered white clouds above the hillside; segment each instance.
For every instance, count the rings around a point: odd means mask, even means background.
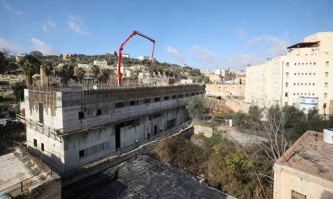
[[[44,55],[118,51],[134,31],[158,61],[245,70],[333,31],[333,0],[0,0],[0,48]],[[151,56],[138,35],[124,47]]]

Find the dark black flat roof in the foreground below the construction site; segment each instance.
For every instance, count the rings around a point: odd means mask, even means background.
[[[137,155],[62,189],[63,199],[235,199],[183,170]]]

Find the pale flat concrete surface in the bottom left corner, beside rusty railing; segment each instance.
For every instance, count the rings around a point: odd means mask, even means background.
[[[32,172],[14,153],[16,152],[0,156],[0,191],[33,176]],[[6,192],[0,192],[0,195],[3,193]]]

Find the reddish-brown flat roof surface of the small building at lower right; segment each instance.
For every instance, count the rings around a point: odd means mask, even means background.
[[[308,130],[275,164],[333,182],[333,144],[323,141],[322,132]]]

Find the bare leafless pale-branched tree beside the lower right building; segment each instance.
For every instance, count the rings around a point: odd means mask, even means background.
[[[267,98],[266,98],[267,99]],[[243,131],[257,139],[247,144],[234,142],[226,147],[232,156],[246,165],[249,174],[257,180],[262,198],[271,198],[273,189],[273,165],[291,146],[285,124],[290,118],[290,106],[280,107],[278,101],[258,100],[250,107]],[[261,141],[260,141],[261,140]],[[238,153],[235,153],[237,148]],[[264,183],[270,183],[270,190]]]

